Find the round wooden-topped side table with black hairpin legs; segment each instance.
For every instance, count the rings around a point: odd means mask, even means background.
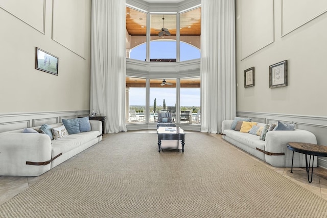
[[[315,156],[327,157],[327,146],[323,145],[316,145],[311,143],[303,143],[303,142],[289,142],[287,143],[288,149],[293,151],[292,155],[292,169],[291,173],[293,173],[293,157],[294,151],[305,154],[306,155],[306,171],[308,174],[308,181],[309,183],[312,182],[312,175],[313,175],[313,160]],[[307,155],[310,155],[309,162]],[[310,172],[310,162],[312,156],[312,167],[311,167],[311,179],[309,179],[309,172]]]

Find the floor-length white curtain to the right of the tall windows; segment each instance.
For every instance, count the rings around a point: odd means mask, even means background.
[[[236,116],[235,1],[202,0],[201,131]]]

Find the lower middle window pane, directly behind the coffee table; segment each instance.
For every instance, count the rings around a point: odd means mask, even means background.
[[[157,113],[169,110],[175,117],[176,79],[150,79],[150,122],[157,122]]]

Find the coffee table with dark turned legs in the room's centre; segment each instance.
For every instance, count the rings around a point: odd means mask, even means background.
[[[185,133],[184,130],[179,127],[158,127],[158,152],[160,152],[161,140],[181,140],[182,152],[184,152],[185,145]],[[178,141],[177,141],[178,149]]]

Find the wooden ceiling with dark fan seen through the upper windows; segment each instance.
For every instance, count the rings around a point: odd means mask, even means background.
[[[164,26],[162,26],[164,17]],[[161,28],[167,28],[172,36],[176,36],[175,14],[150,14],[151,36],[157,36]],[[147,14],[126,7],[126,29],[131,36],[146,36]],[[180,14],[180,36],[200,36],[201,34],[201,8]]]

